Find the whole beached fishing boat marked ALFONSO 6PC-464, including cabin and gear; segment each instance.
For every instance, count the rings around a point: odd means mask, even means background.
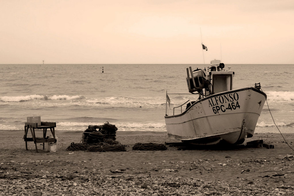
[[[224,67],[220,60],[213,60],[207,71],[187,68],[188,91],[195,94],[195,99],[174,107],[172,115],[168,115],[167,105],[168,95],[174,93],[166,93],[169,138],[196,145],[220,142],[237,145],[253,136],[266,94],[260,83],[233,90],[235,73],[231,67],[228,70]],[[175,114],[179,108],[181,112]]]

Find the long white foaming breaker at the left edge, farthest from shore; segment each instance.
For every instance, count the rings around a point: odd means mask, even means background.
[[[53,96],[48,96],[48,95],[27,95],[27,96],[1,96],[0,101],[3,102],[24,102],[24,101],[29,101],[29,100],[71,100],[71,99],[82,99],[84,98],[83,96],[69,96],[69,95],[53,95]]]

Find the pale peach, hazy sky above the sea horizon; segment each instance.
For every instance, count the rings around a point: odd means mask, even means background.
[[[0,24],[0,64],[294,64],[293,0],[0,0]]]

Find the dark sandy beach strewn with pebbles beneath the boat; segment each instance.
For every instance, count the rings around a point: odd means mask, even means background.
[[[136,143],[176,142],[166,132],[117,131],[126,152],[67,151],[83,131],[56,130],[57,152],[24,131],[1,130],[0,195],[293,195],[293,150],[280,134],[255,134],[273,149],[132,150]],[[283,134],[292,147],[294,134]],[[29,136],[29,134],[28,134]],[[293,148],[292,147],[292,148]]]

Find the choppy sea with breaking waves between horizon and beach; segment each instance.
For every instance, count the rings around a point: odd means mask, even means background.
[[[106,122],[118,131],[166,131],[166,112],[198,98],[188,93],[190,66],[209,65],[1,64],[0,130],[24,130],[27,117],[41,116],[41,121],[56,122],[57,133]],[[233,89],[260,83],[267,94],[255,133],[294,133],[294,65],[228,67],[235,72]],[[183,94],[169,95],[166,106],[166,92]]]

